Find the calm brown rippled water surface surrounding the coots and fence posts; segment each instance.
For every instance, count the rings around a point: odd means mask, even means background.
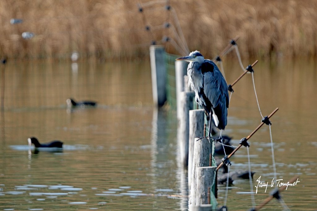
[[[152,107],[149,63],[77,65],[8,63],[1,72],[0,209],[185,210],[181,178],[186,172],[177,162],[176,112]],[[228,83],[242,73],[235,61],[224,68]],[[316,63],[259,62],[255,71],[262,114],[280,109],[271,119],[278,178],[300,176],[282,197],[291,210],[316,210]],[[225,132],[237,146],[261,116],[251,75],[234,90]],[[68,110],[69,97],[94,100],[98,106]],[[253,186],[260,176],[262,182],[273,178],[268,132],[263,126],[249,140]],[[42,142],[62,140],[64,149],[29,151],[29,136]],[[231,158],[230,170],[247,170],[246,154],[241,148]],[[220,206],[225,187],[218,188]],[[265,193],[259,188],[256,204],[272,189]],[[228,208],[248,210],[250,195],[243,192],[249,191],[249,181],[236,180],[228,192]],[[263,210],[283,207],[272,200]]]

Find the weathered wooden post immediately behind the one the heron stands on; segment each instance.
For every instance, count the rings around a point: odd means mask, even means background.
[[[204,109],[189,111],[188,187],[191,188],[191,174],[194,154],[194,140],[204,136]]]

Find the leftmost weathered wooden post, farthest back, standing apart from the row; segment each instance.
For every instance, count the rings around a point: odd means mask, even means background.
[[[166,101],[166,67],[163,46],[150,46],[152,75],[152,95],[156,106],[163,106]]]

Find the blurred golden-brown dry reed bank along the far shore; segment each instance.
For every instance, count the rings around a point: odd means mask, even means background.
[[[150,0],[143,0],[142,3]],[[0,57],[14,59],[69,58],[76,50],[81,58],[118,59],[148,54],[153,39],[167,35],[176,39],[171,28],[145,30],[138,1],[104,0],[1,0]],[[244,57],[316,57],[316,0],[171,0],[190,50],[217,55],[239,36]],[[151,26],[173,22],[159,3],[144,9]],[[11,25],[11,18],[23,23]],[[22,32],[36,34],[23,40]],[[166,44],[170,53],[178,53]],[[179,53],[178,53],[179,54]]]

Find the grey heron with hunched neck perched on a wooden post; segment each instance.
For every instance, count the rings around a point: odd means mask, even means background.
[[[199,51],[193,51],[189,56],[176,60],[190,62],[187,67],[188,84],[195,92],[196,102],[209,114],[209,134],[211,136],[211,121],[221,132],[227,125],[229,107],[228,85],[217,65],[210,59],[204,59]]]

